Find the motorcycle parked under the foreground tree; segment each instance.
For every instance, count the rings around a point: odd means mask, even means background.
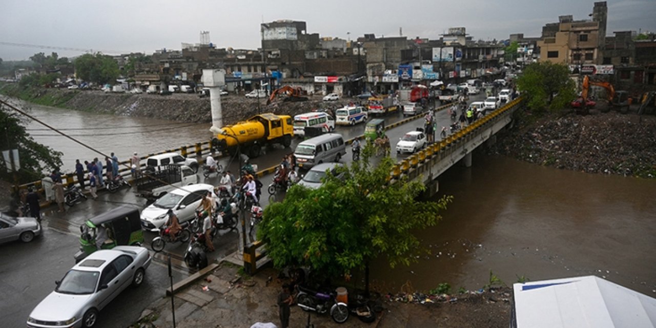
[[[348,319],[348,305],[337,302],[334,292],[321,293],[303,285],[298,285],[296,298],[298,306],[306,312],[328,313],[333,318],[333,321],[337,323],[344,323]]]

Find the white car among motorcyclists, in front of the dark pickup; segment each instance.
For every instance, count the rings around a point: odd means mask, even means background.
[[[171,192],[159,197],[155,203],[150,204],[141,211],[141,226],[144,230],[159,232],[159,228],[167,221],[167,212],[173,211],[178,216],[180,223],[194,218],[195,209],[200,205],[203,196],[211,192],[214,194],[214,186],[211,184],[190,184],[182,188],[171,190]],[[216,196],[216,195],[215,195]]]

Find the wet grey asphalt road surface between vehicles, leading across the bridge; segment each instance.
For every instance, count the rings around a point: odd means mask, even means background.
[[[470,96],[470,102],[482,100],[484,96]],[[383,117],[386,124],[394,123],[403,119],[401,113],[392,113]],[[449,124],[446,111],[436,113],[438,130],[441,126]],[[390,129],[386,132],[392,142],[392,157],[396,157],[394,147],[396,141],[407,131],[414,131],[416,127],[423,125],[422,119],[417,119]],[[353,138],[363,134],[364,123],[354,127],[337,127],[336,133],[340,133],[345,139]],[[439,139],[439,131],[436,133]],[[273,148],[251,162],[258,165],[258,169],[266,169],[280,163],[281,157],[293,152],[300,139],[295,139],[291,148]],[[399,155],[401,159],[407,155]],[[350,147],[347,147],[347,155],[342,157],[343,162],[351,161]],[[233,173],[239,171],[239,163],[234,158],[220,159],[224,167],[229,167]],[[199,174],[201,182],[218,184],[218,178],[211,176],[208,179]],[[203,181],[204,180],[204,181]],[[266,187],[272,180],[272,174],[262,178],[264,188],[262,192],[261,205],[264,207],[270,201],[279,201],[283,195],[268,197]],[[75,264],[73,255],[79,247],[79,226],[92,216],[104,213],[109,209],[121,204],[135,205],[141,209],[148,205],[146,199],[137,197],[134,189],[123,188],[115,194],[101,191],[96,201],[91,199],[77,203],[68,208],[66,213],[56,213],[56,207],[49,207],[43,211],[44,229],[43,235],[37,237],[28,244],[20,241],[0,245],[0,320],[2,327],[25,327],[26,319],[31,310],[45,298],[55,287],[54,281],[61,279],[64,274]],[[216,251],[211,254],[210,260],[220,260],[225,256],[236,252],[239,247],[239,234],[236,230],[221,231],[220,236],[215,239]],[[145,247],[150,249],[150,241],[155,237],[154,233],[144,232]],[[138,289],[127,289],[104,310],[100,312],[97,327],[127,327],[134,323],[148,304],[165,296],[165,289],[169,287],[170,280],[167,272],[167,255],[171,255],[173,262],[174,283],[189,276],[194,270],[186,268],[182,255],[186,243],[167,244],[165,251],[154,254],[154,260],[146,272],[146,280]],[[108,321],[112,316],[112,321]]]

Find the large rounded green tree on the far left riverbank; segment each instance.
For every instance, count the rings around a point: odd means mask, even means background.
[[[114,82],[119,77],[119,66],[111,56],[101,53],[83,54],[75,59],[75,74],[84,81],[98,83]]]

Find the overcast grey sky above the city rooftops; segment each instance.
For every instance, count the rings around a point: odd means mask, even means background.
[[[558,16],[586,19],[594,1],[584,0],[0,0],[0,42],[93,49],[105,53],[180,49],[199,43],[210,31],[217,47],[256,49],[259,24],[290,19],[307,22],[308,33],[355,39],[403,35],[437,39],[450,27],[464,26],[474,39],[508,39],[510,33],[539,37]],[[656,31],[656,0],[609,0],[607,34]],[[77,56],[80,51],[0,44],[3,60],[36,52]]]

